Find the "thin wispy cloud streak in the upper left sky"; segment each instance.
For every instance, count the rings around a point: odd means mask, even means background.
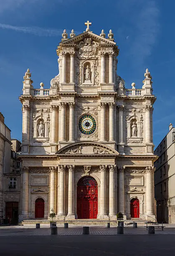
[[[61,36],[63,33],[63,29],[45,29],[39,27],[18,27],[18,26],[11,26],[8,24],[1,24],[0,28],[2,29],[10,29],[18,32],[23,33],[30,33],[36,36]]]

